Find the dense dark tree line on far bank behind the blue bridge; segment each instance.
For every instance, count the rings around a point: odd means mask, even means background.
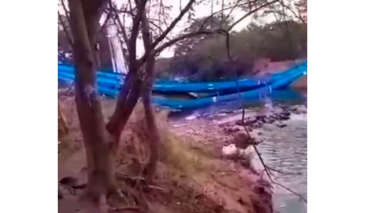
[[[188,28],[196,30],[202,19]],[[219,17],[212,23],[218,27]],[[226,25],[231,21],[226,20]],[[176,45],[174,56],[156,61],[157,77],[172,80],[174,77],[188,77],[189,80],[231,79],[249,74],[256,59],[269,58],[272,61],[293,60],[307,57],[307,24],[295,20],[275,21],[265,25],[255,23],[231,35],[231,52],[236,57],[238,70],[231,68],[226,57],[225,37],[207,35],[186,39]]]

